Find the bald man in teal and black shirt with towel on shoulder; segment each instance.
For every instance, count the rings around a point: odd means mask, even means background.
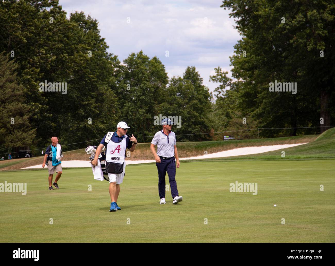
[[[57,157],[57,147],[60,149],[58,151],[59,155],[62,154],[61,146],[58,144],[58,138],[52,137],[51,138],[51,145],[48,146],[47,150],[45,151],[44,160],[42,167],[45,167],[45,164],[48,165],[48,172],[49,172],[49,190],[55,190],[52,185],[55,186],[56,189],[59,189],[58,187],[58,180],[61,178],[62,175],[62,165],[60,159],[58,160]],[[55,182],[52,183],[52,177],[54,173],[57,173]]]

